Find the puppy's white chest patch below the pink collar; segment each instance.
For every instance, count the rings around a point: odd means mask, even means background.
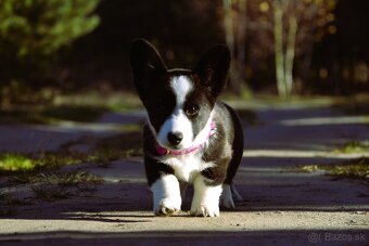
[[[213,163],[205,163],[199,154],[187,154],[181,156],[165,156],[162,163],[169,165],[177,179],[192,182],[193,179],[204,169],[214,167]]]

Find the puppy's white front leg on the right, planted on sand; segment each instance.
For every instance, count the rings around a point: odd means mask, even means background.
[[[212,185],[203,176],[198,176],[193,182],[193,199],[191,205],[192,216],[217,217],[219,216],[219,196],[221,184]]]

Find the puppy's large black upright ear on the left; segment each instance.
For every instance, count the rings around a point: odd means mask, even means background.
[[[144,39],[136,39],[130,49],[130,66],[138,88],[152,76],[166,72],[166,66],[156,49]]]

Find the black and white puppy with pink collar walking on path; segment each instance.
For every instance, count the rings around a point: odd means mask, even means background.
[[[234,111],[217,101],[226,86],[229,49],[214,47],[192,70],[167,69],[155,48],[138,39],[130,63],[149,114],[143,151],[155,215],[179,211],[188,183],[194,189],[192,216],[219,216],[219,202],[234,208],[233,197],[242,199],[232,179],[243,132]]]

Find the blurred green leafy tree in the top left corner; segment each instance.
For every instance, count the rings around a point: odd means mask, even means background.
[[[1,0],[0,82],[20,76],[31,80],[30,72],[41,76],[56,51],[99,25],[100,18],[91,14],[98,4],[99,0]]]

